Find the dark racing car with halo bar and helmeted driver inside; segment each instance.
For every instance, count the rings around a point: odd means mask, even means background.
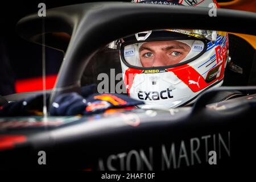
[[[256,15],[208,13],[108,2],[21,19],[24,39],[65,56],[52,90],[4,97],[0,168],[250,171],[255,47],[241,37],[255,35]]]

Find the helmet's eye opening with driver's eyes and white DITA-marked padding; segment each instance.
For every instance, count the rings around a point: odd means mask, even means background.
[[[123,39],[121,57],[128,67],[175,67],[197,59],[207,49],[204,39],[191,36],[152,37],[146,32],[135,39]],[[144,40],[143,40],[144,39]]]

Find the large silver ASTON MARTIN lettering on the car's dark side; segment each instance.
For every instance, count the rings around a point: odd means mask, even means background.
[[[209,165],[210,151],[217,160],[230,158],[230,131],[163,143],[159,146],[132,149],[98,159],[100,171],[173,170]]]

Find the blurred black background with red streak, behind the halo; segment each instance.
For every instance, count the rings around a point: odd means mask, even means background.
[[[227,1],[230,0],[218,0],[218,2]],[[42,90],[42,47],[23,40],[15,31],[18,20],[28,14],[36,13],[39,10],[38,4],[40,2],[46,3],[46,9],[51,9],[96,1],[25,0],[0,2],[0,95],[2,96],[16,92]],[[104,1],[101,2],[104,3]],[[130,0],[124,2],[130,2]],[[239,40],[237,40],[237,45],[240,45]],[[54,85],[63,56],[63,52],[46,48],[47,89]],[[230,73],[230,79],[233,77],[232,74]],[[246,75],[247,77],[249,75]],[[237,79],[234,79],[234,81],[237,82]]]

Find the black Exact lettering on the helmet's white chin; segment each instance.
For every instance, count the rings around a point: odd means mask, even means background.
[[[139,91],[138,92],[138,98],[140,100],[160,100],[161,99],[168,99],[168,98],[173,98],[174,96],[171,96],[170,92],[172,92],[172,90],[167,89],[167,90],[162,90],[160,93],[157,91],[154,92],[142,92]]]

